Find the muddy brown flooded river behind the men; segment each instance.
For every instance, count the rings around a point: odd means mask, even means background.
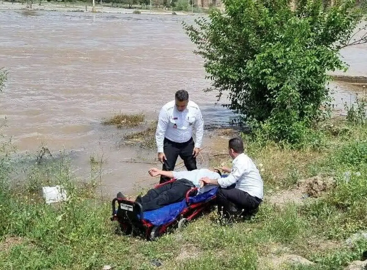
[[[225,125],[232,115],[215,105],[216,93],[202,91],[209,86],[203,61],[192,53],[195,47],[181,26],[182,20],[193,19],[0,11],[0,66],[9,72],[0,94],[6,134],[14,136],[19,152],[32,152],[41,144],[52,152],[73,150],[73,168],[80,176],[87,177],[91,155],[103,154],[105,193],[131,191],[149,179],[146,171],[152,165],[123,161],[152,160],[155,150],[117,147],[123,131],[101,125],[102,118],[142,112],[154,120],[178,89],[189,91],[207,125]],[[353,61],[361,52],[346,53]],[[361,70],[358,62],[351,66]],[[349,92],[341,86],[336,100],[343,97],[349,100]]]

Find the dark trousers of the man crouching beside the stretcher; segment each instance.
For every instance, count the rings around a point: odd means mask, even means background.
[[[253,197],[243,190],[235,188],[236,184],[227,188],[218,188],[217,204],[218,214],[223,214],[225,217],[232,215],[248,216],[254,213],[261,199]],[[223,213],[221,213],[223,211]]]

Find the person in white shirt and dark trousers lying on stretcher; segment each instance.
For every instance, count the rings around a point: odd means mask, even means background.
[[[218,179],[221,177],[219,170],[212,171],[209,169],[175,172],[152,168],[149,169],[148,173],[152,177],[162,175],[169,178],[175,178],[177,180],[172,183],[164,184],[158,188],[152,188],[142,197],[139,195],[135,201],[142,205],[143,211],[155,210],[165,205],[182,201],[186,196],[186,192],[193,187],[199,188],[199,193],[206,192],[215,186],[206,185],[200,188],[199,180],[202,177],[209,177],[211,179]],[[125,197],[121,192],[119,192],[117,193],[117,198]]]

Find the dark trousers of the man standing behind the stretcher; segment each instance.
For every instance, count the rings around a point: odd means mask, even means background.
[[[175,143],[168,140],[167,138],[164,138],[163,152],[166,155],[167,160],[163,163],[162,170],[174,170],[178,156],[182,158],[187,170],[197,169],[196,158],[194,158],[192,155],[194,145],[195,143],[192,138],[186,143]],[[168,177],[161,176],[159,183],[164,183],[168,180],[170,180]]]

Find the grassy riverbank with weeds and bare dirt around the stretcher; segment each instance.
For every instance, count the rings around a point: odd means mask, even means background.
[[[77,186],[66,158],[39,162],[24,185],[11,188],[12,161],[3,147],[0,269],[155,269],[156,262],[159,269],[343,269],[367,249],[367,240],[345,244],[367,229],[367,130],[333,120],[316,134],[317,143],[298,150],[247,143],[265,182],[252,220],[219,226],[212,212],[155,242],[115,233],[110,201],[98,195],[102,163],[91,162],[91,175]],[[210,162],[230,164],[225,155]],[[65,185],[69,201],[44,204],[44,184]],[[289,254],[312,264],[281,266]]]

